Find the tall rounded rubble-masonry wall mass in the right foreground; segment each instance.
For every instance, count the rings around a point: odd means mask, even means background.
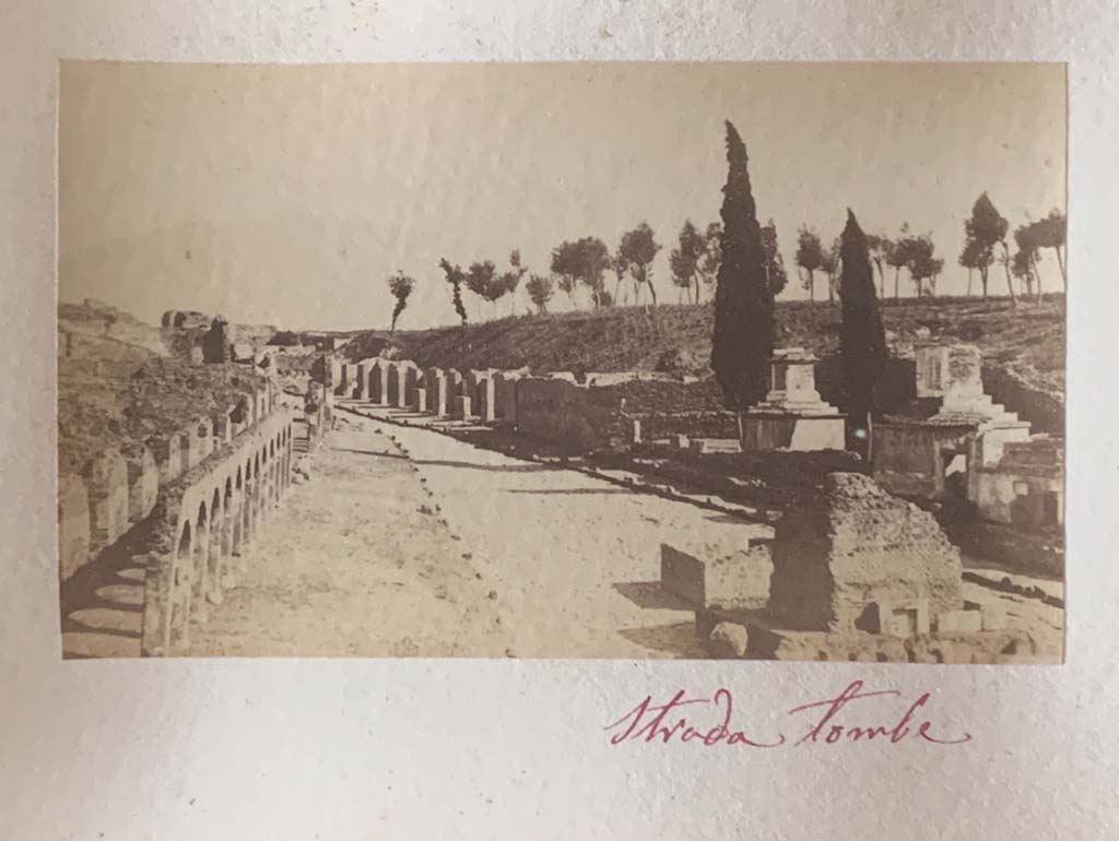
[[[773,567],[770,611],[794,629],[877,633],[880,608],[928,632],[963,603],[959,550],[932,514],[857,473],[829,474],[818,504],[786,512]]]

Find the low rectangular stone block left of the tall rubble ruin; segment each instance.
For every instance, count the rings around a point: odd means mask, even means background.
[[[660,586],[694,610],[760,610],[773,573],[769,547],[751,546],[745,528],[727,525],[702,538],[660,545]]]

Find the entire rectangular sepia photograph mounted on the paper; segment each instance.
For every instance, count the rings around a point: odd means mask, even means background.
[[[58,95],[63,658],[1063,662],[1064,64]]]

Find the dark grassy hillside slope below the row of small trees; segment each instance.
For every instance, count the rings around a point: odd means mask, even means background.
[[[906,355],[914,341],[971,342],[982,350],[985,362],[1063,401],[1063,295],[1046,296],[1041,304],[1021,302],[1016,309],[1007,299],[902,299],[884,302],[883,320],[895,355]],[[781,346],[811,348],[820,355],[838,349],[838,304],[779,302],[777,322]],[[345,353],[359,360],[384,350],[423,367],[661,370],[706,376],[712,325],[709,304],[609,308],[392,337],[368,331],[355,337]]]

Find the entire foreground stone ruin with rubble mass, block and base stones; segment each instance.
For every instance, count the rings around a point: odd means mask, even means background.
[[[993,604],[963,598],[959,550],[935,519],[869,476],[831,473],[772,540],[741,525],[661,545],[661,587],[696,612],[713,653],[773,660],[1031,661],[1042,652]]]

